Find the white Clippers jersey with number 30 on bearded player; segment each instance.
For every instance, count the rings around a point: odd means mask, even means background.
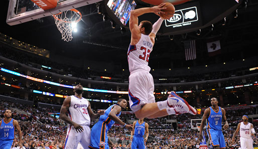
[[[77,98],[70,96],[71,103],[68,111],[68,117],[80,125],[90,125],[90,117],[88,114],[89,102],[85,98]]]

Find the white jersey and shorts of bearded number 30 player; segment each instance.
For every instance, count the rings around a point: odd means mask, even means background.
[[[90,117],[87,111],[89,102],[85,98],[71,96],[71,103],[68,111],[68,117],[83,127],[83,132],[76,132],[71,124],[68,124],[68,130],[65,140],[66,148],[77,148],[80,142],[84,149],[88,148],[90,143]],[[75,147],[76,146],[76,147]]]

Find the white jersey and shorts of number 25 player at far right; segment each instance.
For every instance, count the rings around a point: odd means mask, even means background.
[[[251,149],[252,147],[252,138],[251,138],[251,123],[245,125],[243,122],[240,124],[240,145],[241,149]]]

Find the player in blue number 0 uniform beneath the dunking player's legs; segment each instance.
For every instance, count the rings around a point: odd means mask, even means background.
[[[144,137],[144,134],[146,136]],[[149,124],[144,122],[144,119],[134,121],[133,130],[131,131],[132,149],[145,149],[146,142],[149,136]]]

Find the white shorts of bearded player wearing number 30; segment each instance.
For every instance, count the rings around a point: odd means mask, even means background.
[[[82,132],[76,132],[75,128],[69,125],[65,140],[65,149],[76,149],[80,142],[83,149],[89,149],[90,128],[88,125],[81,125]]]

